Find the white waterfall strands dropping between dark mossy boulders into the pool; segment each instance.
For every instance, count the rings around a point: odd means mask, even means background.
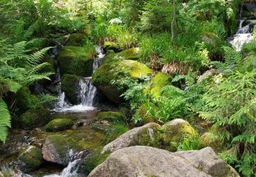
[[[104,50],[102,46],[96,46],[96,52],[98,54],[98,58],[94,59],[93,71],[96,71],[100,66],[100,62],[104,57]],[[79,80],[79,91],[78,91],[78,102],[79,104],[76,106],[69,106],[65,101],[65,93],[61,92],[61,77],[59,73],[59,67],[57,67],[57,78],[56,80],[59,82],[59,96],[58,103],[56,105],[56,111],[59,112],[83,112],[85,110],[93,110],[94,102],[96,100],[97,88],[92,84],[91,77],[81,78]]]

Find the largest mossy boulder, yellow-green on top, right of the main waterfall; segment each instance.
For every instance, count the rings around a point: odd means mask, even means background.
[[[142,78],[152,74],[152,69],[132,60],[112,61],[101,65],[92,75],[94,86],[115,103],[122,102],[120,95],[125,91],[124,86],[116,82],[126,77]],[[114,83],[112,83],[115,81]]]

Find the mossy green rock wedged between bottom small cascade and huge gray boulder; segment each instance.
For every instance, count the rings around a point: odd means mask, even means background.
[[[96,168],[100,163],[103,163],[107,157],[109,157],[109,153],[104,155],[100,154],[100,150],[94,150],[91,152],[91,155],[88,159],[83,163],[84,165],[84,173],[89,174],[94,168]]]

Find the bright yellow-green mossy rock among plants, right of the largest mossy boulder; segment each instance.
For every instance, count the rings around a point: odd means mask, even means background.
[[[162,95],[161,89],[167,85],[171,85],[171,77],[166,74],[158,73],[152,79],[152,86],[150,88],[150,93],[155,98],[159,97],[160,95]]]

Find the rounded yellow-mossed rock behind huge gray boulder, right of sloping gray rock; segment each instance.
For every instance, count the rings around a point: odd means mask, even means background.
[[[165,123],[165,125],[162,125],[161,130],[165,149],[172,152],[177,150],[176,145],[183,138],[195,138],[198,135],[197,131],[186,120],[181,118],[176,118],[169,123]]]

